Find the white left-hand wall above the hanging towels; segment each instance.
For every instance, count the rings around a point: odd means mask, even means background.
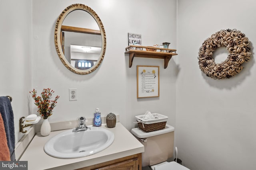
[[[12,96],[15,141],[19,117],[28,115],[32,88],[32,0],[0,0],[0,96]]]

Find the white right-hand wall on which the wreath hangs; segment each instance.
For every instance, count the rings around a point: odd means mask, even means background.
[[[198,65],[204,40],[221,29],[238,29],[254,47],[253,0],[178,0],[176,145],[191,170],[256,167],[255,51],[237,76],[206,77]]]

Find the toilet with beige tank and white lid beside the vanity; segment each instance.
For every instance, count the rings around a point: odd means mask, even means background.
[[[132,134],[144,145],[142,167],[150,166],[152,170],[189,170],[177,162],[166,162],[173,156],[174,127],[167,125],[165,129],[144,132],[133,128]]]

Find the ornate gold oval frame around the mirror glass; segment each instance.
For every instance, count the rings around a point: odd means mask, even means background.
[[[62,32],[62,23],[63,23],[64,19],[66,18],[66,16],[74,10],[84,10],[84,11],[88,12],[95,19],[95,21],[98,23],[98,26],[100,28],[100,34],[101,34],[101,38],[102,38],[102,49],[101,49],[100,57],[97,60],[96,64],[94,64],[94,66],[92,66],[91,68],[88,68],[86,70],[80,70],[78,68],[73,67],[68,62],[68,60],[66,59],[66,57],[64,56],[64,53],[62,51],[62,42],[61,42],[62,41],[61,40],[62,39],[62,35],[61,35],[62,34],[61,33]],[[94,12],[94,10],[92,10],[90,7],[88,7],[84,4],[72,4],[62,11],[60,16],[58,17],[58,20],[56,21],[55,31],[54,31],[54,43],[55,43],[56,51],[58,53],[60,60],[70,71],[72,71],[76,74],[90,74],[94,70],[96,70],[98,68],[98,66],[100,66],[100,64],[104,58],[104,55],[106,52],[106,33],[105,33],[104,26],[103,26],[100,18],[98,17],[96,12]]]

